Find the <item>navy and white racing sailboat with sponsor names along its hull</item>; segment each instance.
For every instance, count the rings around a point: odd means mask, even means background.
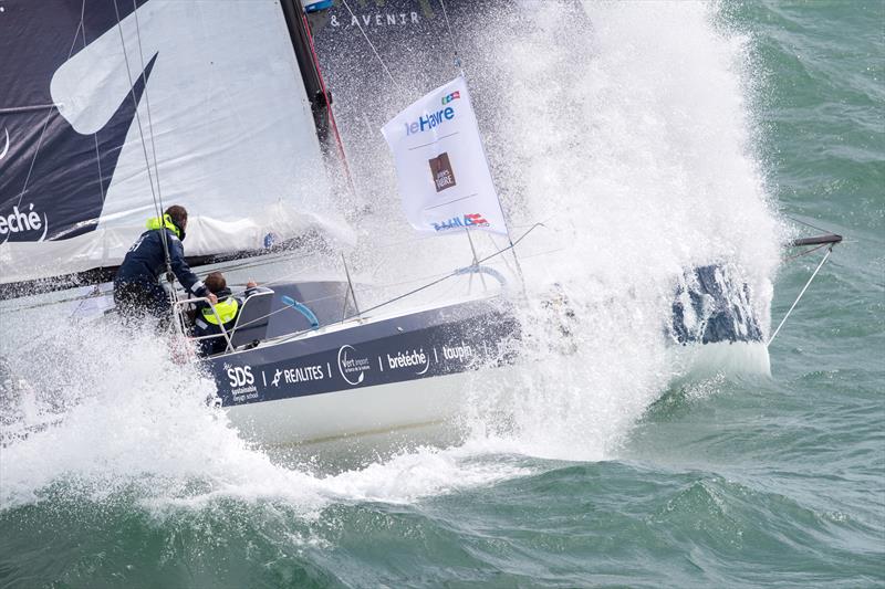
[[[48,0],[4,8],[0,19],[19,31],[0,41],[15,56],[0,66],[4,296],[107,281],[164,202],[191,213],[194,264],[284,257],[305,235],[353,239],[347,215],[335,212],[334,194],[347,182],[320,70],[330,54],[313,44],[305,12],[332,23],[327,11],[341,6]],[[392,25],[420,24],[418,14],[398,12]],[[426,125],[439,141],[440,123],[460,116],[467,95],[466,85],[442,85],[421,98],[438,104],[436,123],[396,124],[406,135]],[[425,158],[417,181],[437,192],[471,186],[451,150],[442,155]],[[414,227],[469,234],[504,225],[500,208],[435,218],[427,210],[413,211]],[[492,256],[512,255],[518,242]],[[195,368],[216,381],[212,402],[268,443],[446,419],[466,379],[518,361],[518,273],[503,276],[487,261],[476,253],[452,261],[442,276],[362,308],[346,262],[337,278],[275,280],[244,302],[222,336],[227,350]],[[412,296],[475,278],[481,290],[442,303]],[[746,345],[767,369],[751,297],[727,264],[690,269],[676,281],[673,322],[662,333],[676,347]]]

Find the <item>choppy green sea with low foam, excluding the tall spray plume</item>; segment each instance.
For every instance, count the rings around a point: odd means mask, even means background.
[[[649,27],[643,13],[618,18]],[[885,3],[704,14],[745,48],[772,214],[845,236],[772,343],[770,378],[658,388],[571,452],[543,432],[261,450],[202,408],[205,382],[171,375],[94,421],[75,379],[49,379],[66,429],[0,449],[0,587],[885,586]],[[774,322],[819,260],[779,266]],[[93,345],[86,386],[108,366],[142,376],[114,346]],[[180,388],[194,399],[171,400]]]

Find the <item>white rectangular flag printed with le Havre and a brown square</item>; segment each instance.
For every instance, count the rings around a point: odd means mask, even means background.
[[[382,133],[394,152],[403,207],[415,229],[507,234],[464,77],[413,103]]]

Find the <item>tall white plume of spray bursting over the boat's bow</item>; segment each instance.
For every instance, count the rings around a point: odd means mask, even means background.
[[[510,81],[485,122],[496,180],[512,224],[545,227],[520,249],[523,361],[471,402],[481,431],[501,420],[522,451],[565,459],[611,456],[679,376],[665,332],[686,269],[733,263],[768,323],[782,233],[751,144],[748,39],[699,3],[585,8],[590,30],[551,3],[528,34],[488,32]]]

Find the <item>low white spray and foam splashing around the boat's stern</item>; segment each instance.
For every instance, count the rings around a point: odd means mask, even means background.
[[[14,335],[3,341],[7,370],[37,409],[3,408],[0,512],[124,502],[166,517],[232,499],[282,503],[311,518],[330,503],[406,503],[525,472],[477,461],[485,450],[472,446],[394,452],[345,472],[271,460],[207,402],[211,379],[174,361],[149,326],[73,322],[27,332],[40,313],[11,318]]]

